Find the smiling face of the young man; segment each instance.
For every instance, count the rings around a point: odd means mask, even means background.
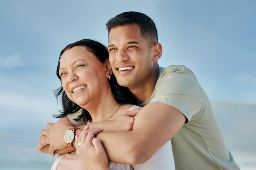
[[[108,37],[109,61],[119,85],[137,88],[153,70],[153,48],[148,47],[136,24],[112,28]]]

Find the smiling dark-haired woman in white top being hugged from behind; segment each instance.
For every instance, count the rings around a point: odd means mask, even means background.
[[[81,107],[83,108],[82,115],[88,118],[89,123],[99,122],[115,118],[126,111],[136,108],[135,105],[125,102],[131,96],[127,95],[127,92],[125,93],[126,96],[124,95],[122,87],[117,84],[115,77],[111,75],[112,70],[108,61],[108,50],[102,44],[90,39],[83,39],[66,46],[61,51],[57,67],[57,76],[60,78],[62,86],[56,90],[55,95],[57,97],[61,96],[63,104],[62,114],[57,117],[74,113]],[[87,129],[88,126],[85,127],[85,130]],[[94,134],[101,131],[103,129],[91,129],[91,132],[86,135],[94,136]],[[85,135],[84,132],[82,135]],[[146,163],[132,166],[113,162],[108,163],[108,157],[100,141],[93,137],[91,139],[92,141],[89,143],[95,144],[96,148],[101,147],[100,159],[96,159],[96,157],[92,160],[95,166],[106,169],[128,170],[143,168],[147,170],[156,168],[174,169],[174,164],[170,161],[173,158],[169,156],[171,142],[160,148]],[[81,140],[80,143],[81,146],[76,147],[84,146],[85,141]],[[163,156],[164,150],[167,150],[168,158],[165,155]],[[85,154],[87,153],[80,153],[82,160],[88,156]],[[94,157],[94,155],[92,156]],[[79,155],[72,152],[58,156],[52,169],[84,170],[87,166],[88,164],[79,159]]]

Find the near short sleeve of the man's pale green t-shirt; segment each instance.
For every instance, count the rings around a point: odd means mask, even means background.
[[[191,70],[182,66],[175,70],[166,68],[157,81],[154,93],[150,102],[174,107],[186,116],[187,122],[192,116],[193,119],[202,117],[200,113],[205,109],[204,95]]]

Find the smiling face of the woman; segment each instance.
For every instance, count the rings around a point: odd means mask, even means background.
[[[106,90],[103,86],[109,85],[106,63],[84,46],[66,50],[61,56],[59,75],[67,97],[81,107],[88,102],[97,103]]]

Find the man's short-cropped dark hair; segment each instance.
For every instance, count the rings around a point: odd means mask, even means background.
[[[137,24],[139,26],[141,37],[147,40],[148,47],[152,47],[158,42],[157,28],[155,26],[155,22],[144,13],[133,11],[121,13],[108,20],[108,22],[106,23],[106,27],[109,34],[111,28],[131,24]]]

